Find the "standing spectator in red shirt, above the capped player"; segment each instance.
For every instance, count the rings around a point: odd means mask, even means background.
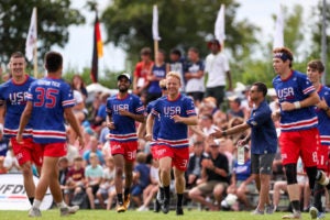
[[[148,87],[147,74],[153,66],[152,51],[150,47],[143,47],[140,52],[141,62],[135,66],[133,79],[133,92],[141,96]]]

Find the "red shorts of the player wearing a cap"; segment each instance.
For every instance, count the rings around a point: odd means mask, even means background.
[[[130,142],[110,142],[111,154],[121,154],[129,162],[134,162],[136,158],[138,141]]]

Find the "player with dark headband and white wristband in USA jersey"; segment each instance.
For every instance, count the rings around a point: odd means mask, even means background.
[[[297,161],[302,160],[314,194],[317,175],[317,145],[319,132],[315,105],[319,96],[305,74],[292,69],[293,53],[286,47],[273,51],[273,67],[277,76],[273,79],[279,110],[273,118],[279,119],[283,165],[287,178],[287,190],[293,207],[293,213],[284,219],[300,218],[300,188],[297,184]]]

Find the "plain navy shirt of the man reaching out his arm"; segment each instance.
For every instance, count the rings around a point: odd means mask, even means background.
[[[275,154],[277,150],[277,134],[272,120],[272,110],[264,100],[253,109],[246,123],[251,127],[251,153]]]

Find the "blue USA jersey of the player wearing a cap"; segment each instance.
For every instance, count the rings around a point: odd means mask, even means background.
[[[124,109],[134,114],[144,114],[144,107],[140,98],[128,94],[123,99],[114,95],[107,99],[107,112],[112,118],[116,129],[110,130],[110,141],[128,142],[136,141],[135,121],[131,117],[120,116],[119,110]]]

